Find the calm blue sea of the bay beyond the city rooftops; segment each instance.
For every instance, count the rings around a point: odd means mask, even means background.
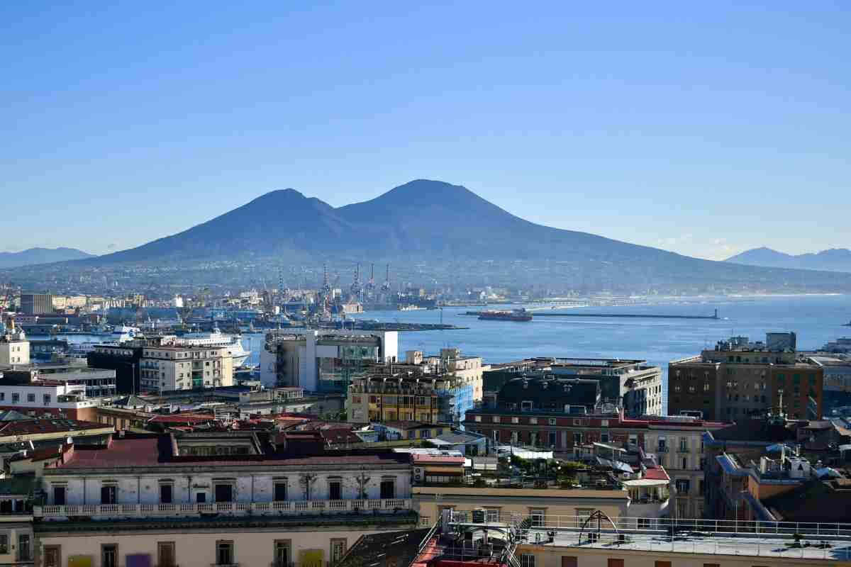
[[[468,327],[444,331],[399,333],[399,354],[421,350],[437,354],[457,347],[462,354],[481,356],[485,364],[534,356],[565,358],[622,358],[647,360],[661,366],[666,381],[670,360],[699,354],[732,336],[765,340],[766,332],[797,333],[799,350],[817,349],[837,337],[851,336],[849,295],[746,296],[721,298],[654,298],[643,304],[572,308],[570,313],[654,315],[712,315],[713,319],[639,319],[597,317],[538,317],[532,321],[478,320],[465,315],[477,309],[512,309],[523,305],[446,307],[415,311],[368,311],[357,315],[403,323],[441,323]],[[540,307],[540,305],[525,305]],[[547,309],[558,313],[558,309]],[[243,333],[243,346],[251,351],[248,363],[260,364],[263,333]],[[72,335],[70,342],[102,340]],[[665,391],[666,388],[663,388]],[[665,400],[665,407],[666,407]]]

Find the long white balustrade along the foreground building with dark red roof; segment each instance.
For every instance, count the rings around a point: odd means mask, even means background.
[[[36,506],[33,516],[66,519],[87,516],[92,519],[174,518],[206,515],[298,516],[316,513],[394,513],[411,509],[408,498],[380,500],[307,500],[275,502],[205,502],[185,504],[68,504]]]

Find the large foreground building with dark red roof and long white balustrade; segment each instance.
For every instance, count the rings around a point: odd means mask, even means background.
[[[42,563],[336,563],[413,528],[408,456],[279,451],[258,432],[133,435],[65,453],[33,508]]]

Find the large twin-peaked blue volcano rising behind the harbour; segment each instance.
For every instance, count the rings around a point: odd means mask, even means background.
[[[845,281],[831,274],[712,262],[534,224],[464,187],[427,179],[345,207],[332,207],[293,189],[275,190],[176,235],[82,264],[223,258],[274,258],[277,265],[340,260],[461,268],[490,261],[494,273],[501,270],[503,285],[555,282],[573,289],[851,291],[851,277]],[[525,267],[513,267],[515,261]]]

